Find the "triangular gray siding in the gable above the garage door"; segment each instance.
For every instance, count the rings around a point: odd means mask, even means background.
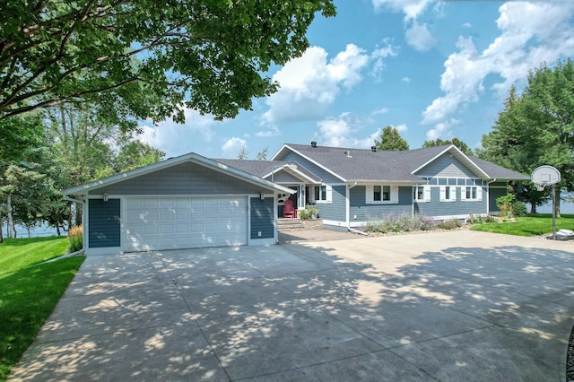
[[[262,187],[239,178],[207,169],[195,163],[182,163],[109,187],[99,188],[94,194],[109,195],[238,195],[259,194]]]

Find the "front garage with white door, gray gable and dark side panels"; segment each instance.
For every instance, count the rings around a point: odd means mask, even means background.
[[[275,244],[279,193],[293,190],[194,152],[64,190],[88,256]]]

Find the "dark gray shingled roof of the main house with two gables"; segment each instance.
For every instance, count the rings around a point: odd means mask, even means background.
[[[343,181],[379,181],[420,183],[423,179],[416,175],[432,161],[445,153],[452,154],[477,178],[500,180],[523,180],[528,177],[509,169],[504,169],[488,161],[466,156],[455,145],[443,145],[403,152],[373,151],[344,147],[311,146],[307,144],[284,144],[272,160],[283,160],[289,152],[332,173]]]

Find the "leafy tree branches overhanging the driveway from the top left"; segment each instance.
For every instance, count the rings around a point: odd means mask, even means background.
[[[113,124],[217,119],[277,90],[264,76],[309,47],[332,0],[3,2],[0,120],[62,102],[91,103]],[[131,127],[135,127],[132,119]]]

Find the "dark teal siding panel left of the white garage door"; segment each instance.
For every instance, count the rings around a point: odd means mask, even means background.
[[[119,199],[101,199],[88,201],[88,240],[89,247],[119,247],[120,246],[120,203]]]

